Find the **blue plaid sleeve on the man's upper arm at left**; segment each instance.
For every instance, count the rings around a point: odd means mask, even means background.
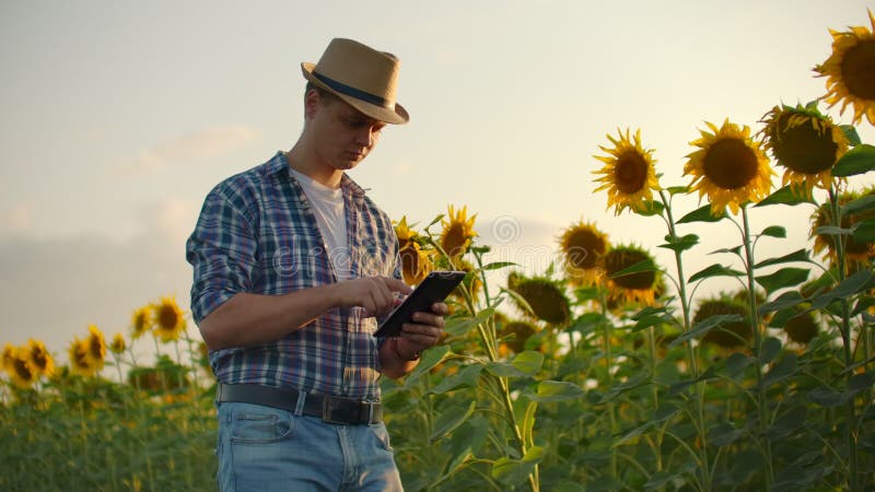
[[[203,201],[195,231],[186,242],[194,267],[191,317],[200,321],[240,292],[252,288],[257,227],[244,194],[226,184]]]

